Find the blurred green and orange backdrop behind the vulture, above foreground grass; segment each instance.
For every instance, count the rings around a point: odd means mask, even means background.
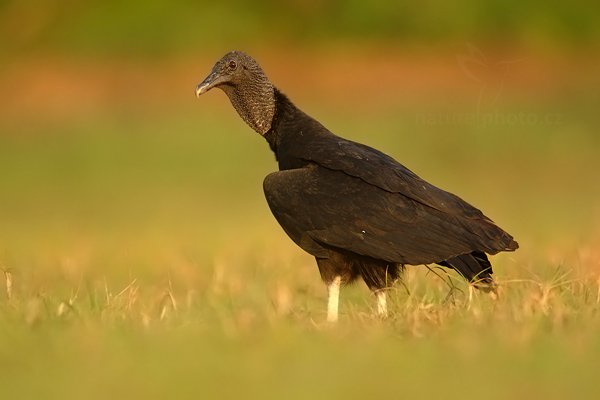
[[[161,274],[299,253],[263,199],[266,144],[222,93],[193,95],[232,49],[333,132],[481,207],[521,242],[517,265],[578,263],[600,227],[598,11],[5,0],[0,263]]]

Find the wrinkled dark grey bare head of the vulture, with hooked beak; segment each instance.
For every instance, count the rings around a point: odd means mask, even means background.
[[[275,91],[260,65],[241,51],[227,53],[196,87],[196,96],[218,87],[223,90],[240,117],[256,132],[271,129],[275,115]]]

